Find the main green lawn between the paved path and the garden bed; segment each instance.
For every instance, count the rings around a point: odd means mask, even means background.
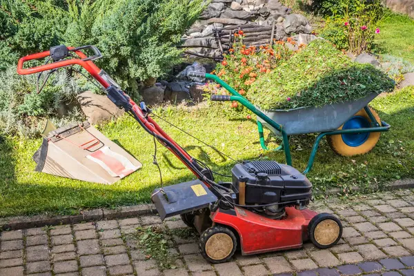
[[[369,184],[384,184],[388,180],[414,177],[414,89],[380,97],[373,107],[380,117],[391,124],[373,152],[359,157],[335,155],[324,141],[308,175],[315,192],[328,187],[349,190],[352,186],[366,188]],[[218,111],[217,111],[218,110]],[[159,111],[161,112],[161,111]],[[235,159],[275,159],[284,162],[283,152],[264,152],[258,143],[255,121],[226,118],[219,108],[200,108],[193,111],[168,108],[160,113],[173,124],[188,130]],[[159,124],[184,146],[191,155],[205,161],[214,170],[229,173],[233,161],[198,144],[164,122]],[[141,170],[116,184],[106,186],[54,177],[34,172],[31,157],[41,139],[6,139],[0,143],[0,216],[32,215],[37,213],[79,213],[84,208],[115,207],[150,201],[150,193],[159,184],[157,168],[152,164],[152,137],[130,117],[106,124],[104,135],[118,141],[144,164]],[[314,135],[291,137],[293,165],[304,170]],[[275,148],[275,139],[270,146]],[[166,185],[193,179],[184,165],[162,146],[158,160]]]

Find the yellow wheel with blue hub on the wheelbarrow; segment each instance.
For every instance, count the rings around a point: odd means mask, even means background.
[[[377,112],[369,108],[373,113],[375,120],[380,123],[380,117]],[[371,119],[364,109],[359,110],[357,114],[353,115],[351,119],[345,122],[339,130],[351,128],[369,128],[371,126]],[[326,137],[328,144],[332,150],[338,155],[353,156],[363,155],[372,150],[380,139],[380,132],[366,132],[357,134],[344,135],[329,135]]]

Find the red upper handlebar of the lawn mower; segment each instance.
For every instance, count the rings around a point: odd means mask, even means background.
[[[75,48],[68,47],[68,50],[73,50],[73,49]],[[42,72],[42,71],[62,68],[65,66],[79,65],[85,68],[85,70],[87,70],[90,73],[90,75],[92,75],[92,77],[94,77],[97,81],[99,81],[99,83],[101,83],[101,85],[104,88],[108,88],[110,84],[106,82],[105,79],[103,79],[99,75],[100,69],[98,68],[98,66],[96,66],[95,63],[93,63],[90,60],[83,61],[82,59],[86,59],[87,56],[83,54],[83,52],[81,52],[80,50],[75,50],[75,53],[81,59],[66,59],[66,60],[56,61],[53,63],[36,66],[33,68],[26,68],[26,69],[23,68],[23,63],[25,63],[26,61],[34,60],[34,59],[44,59],[45,57],[50,56],[50,51],[38,52],[37,54],[32,54],[26,57],[22,57],[21,59],[19,59],[19,63],[17,63],[17,73],[19,75],[30,75],[30,74],[35,74],[35,73]]]

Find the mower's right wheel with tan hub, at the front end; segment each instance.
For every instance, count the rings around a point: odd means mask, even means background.
[[[341,221],[331,214],[317,214],[309,221],[308,237],[317,248],[330,248],[342,237]]]

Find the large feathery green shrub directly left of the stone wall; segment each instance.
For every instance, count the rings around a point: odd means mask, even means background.
[[[179,61],[181,50],[175,46],[204,6],[201,0],[89,2],[70,6],[65,39],[96,45],[104,56],[98,63],[129,88],[135,88],[135,79],[164,75]]]

